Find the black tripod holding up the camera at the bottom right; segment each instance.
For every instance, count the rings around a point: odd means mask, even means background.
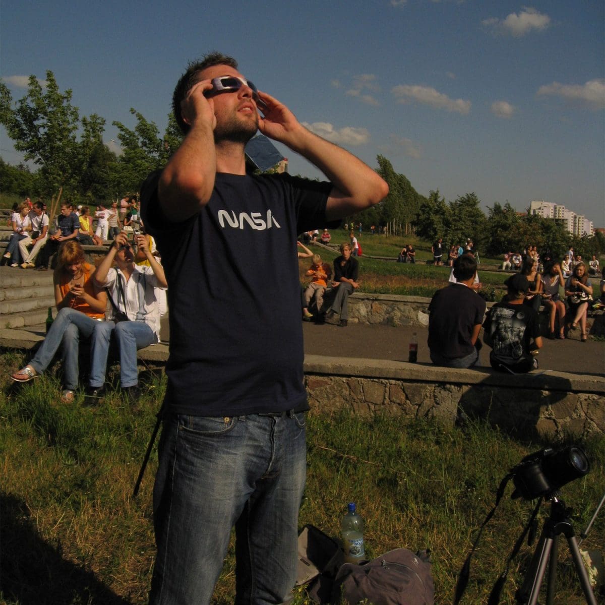
[[[540,541],[538,541],[538,545],[532,556],[525,580],[520,589],[517,590],[517,602],[526,605],[537,604],[538,594],[540,593],[540,587],[546,572],[546,565],[549,563],[550,558],[548,584],[546,585],[546,605],[551,605],[555,593],[555,583],[557,582],[558,540],[559,536],[563,534],[567,538],[569,551],[571,552],[575,571],[586,597],[586,603],[588,605],[597,605],[595,595],[590,588],[590,580],[586,567],[584,567],[580,555],[580,548],[578,548],[578,542],[575,539],[574,528],[569,518],[571,509],[567,508],[563,500],[557,499],[555,495],[551,495],[547,499],[551,501],[551,514],[544,523]]]

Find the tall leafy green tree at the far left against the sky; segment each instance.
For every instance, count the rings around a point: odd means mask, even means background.
[[[91,116],[90,120],[98,126],[100,119]],[[60,92],[52,71],[46,73],[45,90],[36,76],[30,76],[27,94],[16,103],[0,82],[0,123],[25,160],[40,166],[44,194],[54,195],[60,187],[67,193],[76,191],[83,163],[76,136],[78,108],[71,105],[71,90]]]

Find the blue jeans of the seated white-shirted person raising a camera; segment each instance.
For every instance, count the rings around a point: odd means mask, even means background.
[[[113,333],[120,351],[120,385],[122,388],[134,387],[139,383],[137,368],[137,350],[156,342],[154,331],[142,321],[102,321],[94,327],[91,343],[91,358],[94,366],[90,374],[90,386],[102,387],[105,383],[107,355],[110,351],[110,338]]]

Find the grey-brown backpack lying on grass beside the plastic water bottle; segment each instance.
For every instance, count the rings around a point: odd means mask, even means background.
[[[427,552],[396,548],[365,565],[345,563],[334,582],[333,601],[373,605],[433,605],[434,586]]]

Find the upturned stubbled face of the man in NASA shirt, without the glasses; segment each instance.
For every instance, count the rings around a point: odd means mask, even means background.
[[[220,76],[235,76],[244,79],[236,69],[228,65],[213,65],[199,74],[200,80]],[[217,126],[214,140],[247,143],[258,130],[257,103],[253,99],[252,88],[242,85],[239,90],[223,91],[212,97]]]

